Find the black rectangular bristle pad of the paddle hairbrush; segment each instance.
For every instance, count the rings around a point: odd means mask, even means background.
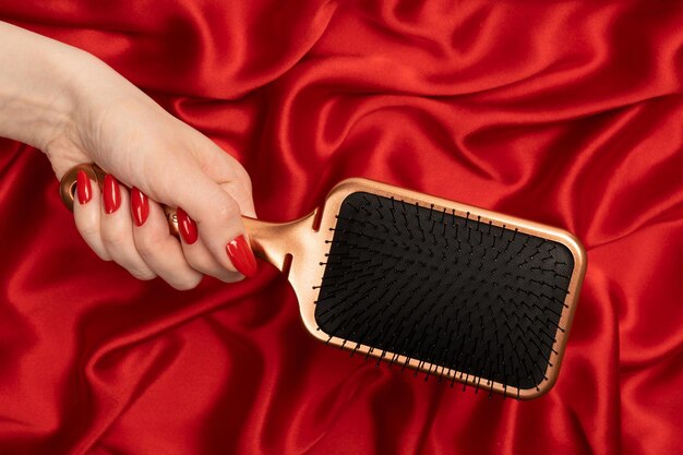
[[[574,268],[566,247],[366,192],[344,200],[331,230],[315,308],[325,333],[440,366],[441,379],[544,380]]]

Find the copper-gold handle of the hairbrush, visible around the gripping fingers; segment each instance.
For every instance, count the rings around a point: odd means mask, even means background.
[[[95,164],[82,164],[69,169],[60,182],[60,195],[64,205],[73,211],[73,201],[76,190],[76,176],[79,171],[84,171],[87,177],[96,182],[101,189],[105,180],[105,172]],[[176,208],[163,205],[168,229],[171,235],[179,238],[178,216]],[[280,272],[287,274],[291,256],[302,248],[301,239],[310,234],[315,212],[301,219],[290,223],[266,223],[248,216],[242,216],[242,223],[247,229],[249,242],[255,255],[269,262]]]

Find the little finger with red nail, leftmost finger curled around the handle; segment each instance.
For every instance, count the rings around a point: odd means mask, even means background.
[[[73,218],[76,229],[83,240],[104,261],[111,261],[111,255],[107,252],[101,239],[100,223],[100,193],[99,187],[84,171],[79,171],[76,176],[76,194],[73,204]]]

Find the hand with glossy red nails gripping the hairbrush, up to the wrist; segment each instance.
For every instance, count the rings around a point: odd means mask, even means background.
[[[75,224],[95,253],[140,279],[159,276],[179,289],[196,286],[202,274],[224,282],[253,274],[240,214],[255,213],[242,166],[101,61],[56,41],[49,46],[69,48],[60,49],[69,67],[62,68],[68,76],[56,79],[62,86],[40,86],[62,94],[44,108],[59,115],[26,142],[46,153],[58,178],[83,163],[110,173],[104,191],[85,178],[77,182]],[[159,204],[182,208],[182,242],[170,236]]]

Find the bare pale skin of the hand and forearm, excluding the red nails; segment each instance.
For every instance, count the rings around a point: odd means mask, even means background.
[[[0,136],[43,151],[58,179],[95,163],[121,182],[112,214],[95,184],[88,203],[74,204],[79,231],[103,260],[177,289],[195,287],[203,275],[242,278],[226,244],[244,234],[241,214],[255,217],[247,171],[94,56],[0,22]],[[129,209],[132,187],[149,199],[141,227]],[[171,237],[159,204],[182,207],[199,240]]]

